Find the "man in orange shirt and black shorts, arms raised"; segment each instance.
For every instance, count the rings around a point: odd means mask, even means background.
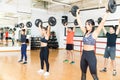
[[[74,54],[73,54],[73,49],[74,49],[73,38],[75,33],[75,25],[73,28],[71,28],[67,26],[67,22],[66,22],[64,23],[64,26],[67,32],[67,36],[66,36],[67,55],[66,55],[66,59],[63,62],[68,63],[70,60],[70,64],[74,64],[75,60],[74,60]]]

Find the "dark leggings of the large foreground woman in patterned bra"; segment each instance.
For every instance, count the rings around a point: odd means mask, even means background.
[[[94,51],[85,51],[83,50],[82,57],[81,57],[81,70],[82,75],[86,74],[87,67],[89,66],[90,73],[92,74],[93,78],[94,75],[97,77],[97,60]],[[84,79],[82,79],[84,80]],[[94,79],[98,80],[98,79]]]

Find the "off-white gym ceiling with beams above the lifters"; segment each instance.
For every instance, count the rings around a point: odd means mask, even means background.
[[[77,5],[81,10],[104,7],[108,0],[32,0],[33,7],[49,9],[50,11],[69,11]],[[120,0],[116,0],[120,4]]]

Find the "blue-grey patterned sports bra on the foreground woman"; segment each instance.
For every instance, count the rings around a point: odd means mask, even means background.
[[[86,45],[95,45],[96,40],[92,37],[92,33],[89,34],[87,37],[83,37],[83,44]]]

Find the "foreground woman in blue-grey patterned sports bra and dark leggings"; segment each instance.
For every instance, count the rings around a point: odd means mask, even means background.
[[[101,23],[98,25],[97,29],[94,30],[95,22],[93,19],[88,19],[85,23],[85,27],[82,26],[81,19],[78,16],[80,10],[77,10],[77,22],[80,26],[81,31],[84,34],[83,37],[83,52],[80,60],[80,67],[82,71],[81,80],[86,80],[86,73],[87,73],[87,67],[89,66],[90,73],[94,80],[98,80],[97,77],[97,60],[94,53],[94,45],[96,42],[96,39],[104,27],[104,23],[106,21],[106,18],[108,16],[108,11],[104,14],[104,17],[101,21]]]

